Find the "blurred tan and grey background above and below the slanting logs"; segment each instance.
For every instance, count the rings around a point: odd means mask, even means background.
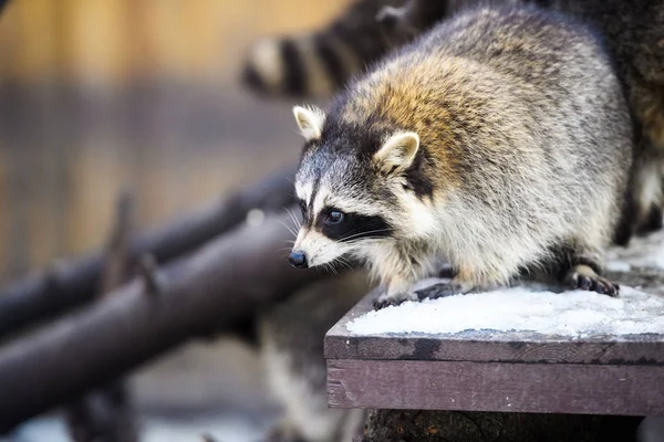
[[[11,0],[0,15],[0,285],[101,246],[122,189],[146,229],[292,164],[290,104],[240,87],[245,51],[347,2]],[[274,413],[260,380],[255,352],[231,339],[146,367],[133,378],[146,440],[251,440]],[[68,440],[49,418],[11,438]]]

